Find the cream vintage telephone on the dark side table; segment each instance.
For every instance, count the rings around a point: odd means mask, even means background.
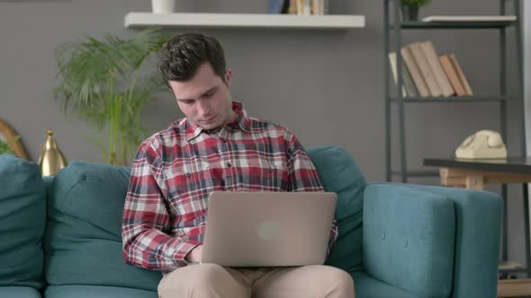
[[[457,158],[506,158],[507,148],[498,132],[480,130],[455,149]]]

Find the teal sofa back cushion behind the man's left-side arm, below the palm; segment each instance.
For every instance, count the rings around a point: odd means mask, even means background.
[[[129,168],[71,162],[49,189],[44,239],[50,285],[111,285],[156,291],[158,272],[126,265],[121,214]]]

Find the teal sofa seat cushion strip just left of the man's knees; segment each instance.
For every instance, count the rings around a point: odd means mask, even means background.
[[[100,285],[50,285],[45,298],[157,298],[157,292]]]

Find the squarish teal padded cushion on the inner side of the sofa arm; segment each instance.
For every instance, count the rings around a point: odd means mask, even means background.
[[[419,297],[452,291],[453,202],[406,185],[369,184],[364,193],[364,267]]]

